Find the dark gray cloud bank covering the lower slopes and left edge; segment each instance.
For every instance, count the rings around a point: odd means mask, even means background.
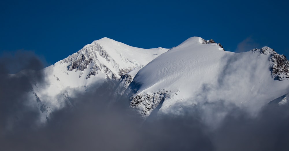
[[[10,68],[22,71],[11,76]],[[33,53],[18,52],[0,60],[1,150],[289,150],[288,105],[272,103],[252,116],[221,100],[204,100],[188,107],[184,115],[143,122],[126,103],[110,104],[115,99],[111,97],[114,81],[84,94],[75,92],[73,109],[54,111],[46,124],[37,126],[39,109],[36,102],[27,105],[27,92],[33,81],[45,82],[41,68]],[[218,124],[208,125],[204,121],[208,110],[228,114]]]

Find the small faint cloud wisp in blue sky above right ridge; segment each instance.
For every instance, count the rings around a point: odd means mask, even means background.
[[[258,47],[260,47],[260,44],[256,43],[255,40],[253,40],[253,38],[249,36],[237,45],[235,52],[246,52]]]

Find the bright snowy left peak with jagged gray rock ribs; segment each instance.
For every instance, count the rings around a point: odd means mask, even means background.
[[[92,84],[120,79],[133,69],[131,73],[135,75],[137,70],[166,51],[168,49],[161,47],[136,48],[109,38],[96,40],[43,69],[47,75],[46,83],[35,83],[32,97],[48,116],[53,109],[70,104],[73,90],[84,91]]]

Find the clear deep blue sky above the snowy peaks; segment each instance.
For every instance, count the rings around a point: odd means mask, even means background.
[[[289,56],[287,1],[15,1],[0,2],[0,51],[34,51],[48,64],[103,37],[171,48],[192,36],[227,51],[269,46]]]

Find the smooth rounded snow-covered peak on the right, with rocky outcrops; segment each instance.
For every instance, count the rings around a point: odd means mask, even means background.
[[[257,111],[289,92],[285,56],[269,47],[227,52],[204,41],[189,38],[140,69],[125,92],[130,106],[144,118],[154,109],[180,114],[184,107],[215,101]]]

